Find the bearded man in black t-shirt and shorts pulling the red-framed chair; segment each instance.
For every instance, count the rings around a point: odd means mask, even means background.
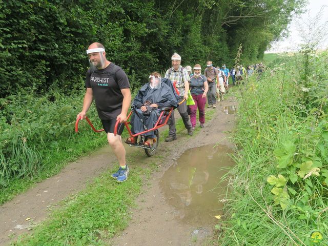
[[[83,108],[77,118],[86,118],[93,97],[98,116],[103,123],[107,140],[118,159],[119,169],[112,174],[118,182],[126,181],[129,168],[126,164],[126,151],[122,144],[121,134],[124,122],[131,104],[131,91],[126,73],[118,66],[107,60],[105,47],[100,43],[89,46],[87,54],[90,69],[87,72],[85,87],[87,88]],[[119,120],[117,135],[114,136],[116,120]]]

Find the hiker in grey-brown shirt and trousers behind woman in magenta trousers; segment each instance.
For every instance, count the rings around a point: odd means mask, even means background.
[[[207,77],[207,81],[209,83],[209,91],[207,93],[208,99],[208,108],[216,108],[216,81],[219,81],[218,71],[215,67],[213,67],[213,63],[209,60],[207,63],[207,68],[204,71],[204,76]]]

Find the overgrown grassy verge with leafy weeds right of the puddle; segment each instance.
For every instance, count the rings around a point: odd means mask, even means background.
[[[310,89],[293,60],[238,88],[236,166],[214,244],[327,245],[328,76],[311,66]]]

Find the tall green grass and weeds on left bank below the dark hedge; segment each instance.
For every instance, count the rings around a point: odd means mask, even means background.
[[[33,178],[45,168],[45,153],[64,151],[65,140],[78,137],[74,124],[82,100],[82,93],[35,97],[32,91],[0,99],[0,187],[13,178]],[[95,108],[88,115],[96,117]]]

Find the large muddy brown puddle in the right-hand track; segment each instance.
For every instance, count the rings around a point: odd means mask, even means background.
[[[234,164],[227,153],[232,150],[224,145],[189,149],[161,178],[162,192],[183,222],[205,226],[221,214],[219,200],[226,196],[226,183],[218,183]]]

